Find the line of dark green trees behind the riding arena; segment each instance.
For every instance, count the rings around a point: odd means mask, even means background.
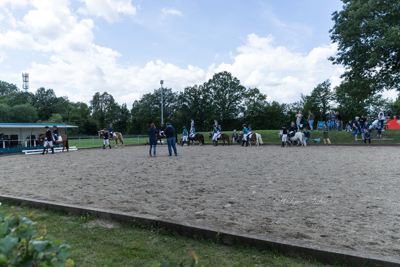
[[[301,94],[290,104],[268,101],[258,88],[246,88],[230,72],[219,72],[204,82],[187,86],[181,92],[163,88],[164,122],[177,129],[190,127],[194,119],[197,131],[210,131],[214,119],[223,130],[241,129],[242,124],[252,124],[253,129],[279,129],[282,123],[290,124],[299,110],[315,121],[327,120],[331,110],[337,110],[345,120],[355,116],[375,116],[376,108],[398,114],[400,101],[384,99],[380,94],[364,96],[363,105],[348,108],[338,100],[339,87],[331,88],[329,80],[318,84],[309,95]],[[79,128],[68,130],[70,135],[96,135],[97,131],[112,123],[122,134],[146,134],[151,123],[161,123],[161,88],[135,100],[129,110],[118,104],[108,93],[96,92],[89,104],[72,102],[67,96],[56,96],[53,89],[40,87],[35,93],[24,92],[16,85],[0,81],[0,122],[15,123],[67,123]]]

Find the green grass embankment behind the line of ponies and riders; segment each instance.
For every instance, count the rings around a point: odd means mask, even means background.
[[[233,131],[232,131],[233,132]],[[232,137],[232,132],[223,132]],[[267,144],[280,144],[281,140],[278,138],[278,130],[255,130],[253,132],[259,133],[261,135],[263,143]],[[208,134],[210,132],[200,132],[201,134],[204,135],[204,143],[212,143],[212,139],[208,138]],[[182,135],[178,136],[178,139],[181,138]],[[320,143],[324,143],[324,140],[322,139],[322,130],[314,130],[310,132],[310,139],[318,139],[320,138],[321,141]],[[376,130],[373,130],[371,132],[371,138],[376,139]],[[398,129],[393,129],[393,130],[386,130],[382,132],[382,138],[387,138],[387,139],[393,139],[390,140],[389,143],[399,143],[400,141],[400,130]],[[348,131],[329,131],[329,139],[332,144],[355,144],[355,143],[363,143],[364,141],[361,139],[361,135],[358,135],[358,140],[355,141],[354,135],[352,135],[352,132]],[[145,144],[146,141],[148,141],[148,138],[146,137],[140,137],[140,138],[132,138],[132,137],[126,137],[124,138],[124,143],[125,145],[132,145],[132,144]],[[87,142],[87,143],[83,143]],[[164,142],[166,143],[165,139]],[[196,142],[197,143],[197,142]],[[218,141],[218,144],[222,143],[222,141]],[[314,143],[314,141],[312,141]],[[386,144],[385,140],[372,140],[371,143],[374,144]],[[119,141],[118,141],[119,144]],[[69,141],[70,147],[102,147],[103,141],[102,139],[82,139],[81,144],[79,144],[78,140],[71,140]],[[110,141],[110,145],[113,147],[115,146],[115,141]]]

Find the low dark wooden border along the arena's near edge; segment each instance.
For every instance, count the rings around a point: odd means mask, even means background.
[[[97,209],[92,207],[70,205],[52,201],[42,201],[38,199],[29,199],[15,197],[10,195],[0,195],[0,201],[8,203],[25,204],[34,208],[46,208],[54,211],[62,211],[74,215],[94,216],[101,219],[111,219],[123,223],[141,223],[142,225],[151,225],[153,227],[164,228],[179,235],[193,238],[220,242],[223,245],[242,244],[260,249],[270,249],[278,251],[291,257],[313,258],[325,264],[345,264],[354,266],[400,266],[400,258],[371,254],[367,252],[330,247],[325,245],[316,245],[302,241],[283,239],[269,235],[245,233],[230,229],[217,229],[216,227],[203,225],[199,223],[190,223],[175,219],[165,219],[158,217],[142,217],[131,215],[125,212]]]

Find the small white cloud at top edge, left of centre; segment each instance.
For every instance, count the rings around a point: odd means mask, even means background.
[[[85,15],[94,15],[105,18],[108,22],[120,21],[120,13],[134,16],[136,7],[132,6],[131,0],[79,0],[84,2],[85,7],[78,12]],[[140,8],[140,7],[139,7]]]

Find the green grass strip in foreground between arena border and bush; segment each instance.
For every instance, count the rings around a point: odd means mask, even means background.
[[[3,203],[0,213],[10,211]],[[35,230],[46,225],[47,237],[71,246],[69,257],[75,266],[151,266],[155,262],[182,261],[188,266],[187,248],[194,249],[204,266],[323,266],[316,261],[288,258],[272,251],[242,245],[227,247],[174,235],[170,231],[126,225],[95,218],[65,215],[44,209],[16,206],[22,215],[34,213]]]

